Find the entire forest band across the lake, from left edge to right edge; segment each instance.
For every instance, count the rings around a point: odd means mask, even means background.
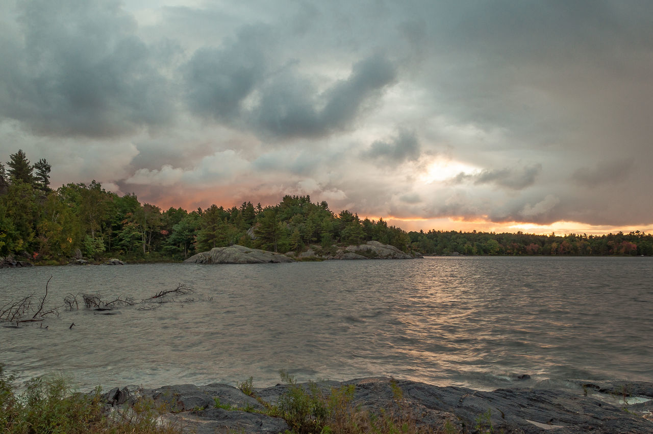
[[[187,211],[140,203],[134,193],[107,192],[98,182],[50,187],[52,167],[31,164],[22,150],[0,163],[0,257],[35,263],[180,261],[214,247],[241,244],[274,252],[301,252],[310,244],[379,241],[425,255],[592,255],[653,254],[653,236],[639,231],[608,235],[533,235],[435,231],[409,232],[342,210],[325,201],[285,195],[276,205],[247,201],[240,207],[211,205]]]

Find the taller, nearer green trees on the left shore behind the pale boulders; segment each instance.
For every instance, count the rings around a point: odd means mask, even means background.
[[[10,155],[7,167],[0,163],[0,256],[178,260],[232,244],[285,253],[371,240],[410,248],[406,231],[382,218],[334,214],[308,195],[286,195],[266,207],[247,201],[231,208],[161,210],[140,203],[134,193],[107,192],[95,180],[53,190],[50,169],[45,159],[32,165],[22,150]]]

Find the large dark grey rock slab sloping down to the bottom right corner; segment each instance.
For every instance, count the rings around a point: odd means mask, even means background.
[[[383,405],[392,399],[391,380],[364,378],[353,380],[357,399]],[[411,405],[454,414],[465,430],[492,426],[493,432],[545,433],[653,433],[653,424],[582,393],[562,390],[498,389],[479,392],[468,388],[437,387],[429,384],[397,381],[404,399]],[[385,404],[384,404],[385,402]],[[554,427],[556,426],[556,427]]]

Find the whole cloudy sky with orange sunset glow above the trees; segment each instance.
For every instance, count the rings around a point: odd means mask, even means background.
[[[0,0],[0,161],[162,209],[653,231],[651,1]]]

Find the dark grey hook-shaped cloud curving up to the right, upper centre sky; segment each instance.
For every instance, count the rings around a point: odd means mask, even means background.
[[[261,90],[252,120],[278,138],[322,137],[355,123],[396,74],[392,62],[375,55],[355,63],[346,80],[318,93],[314,82],[288,67]]]

